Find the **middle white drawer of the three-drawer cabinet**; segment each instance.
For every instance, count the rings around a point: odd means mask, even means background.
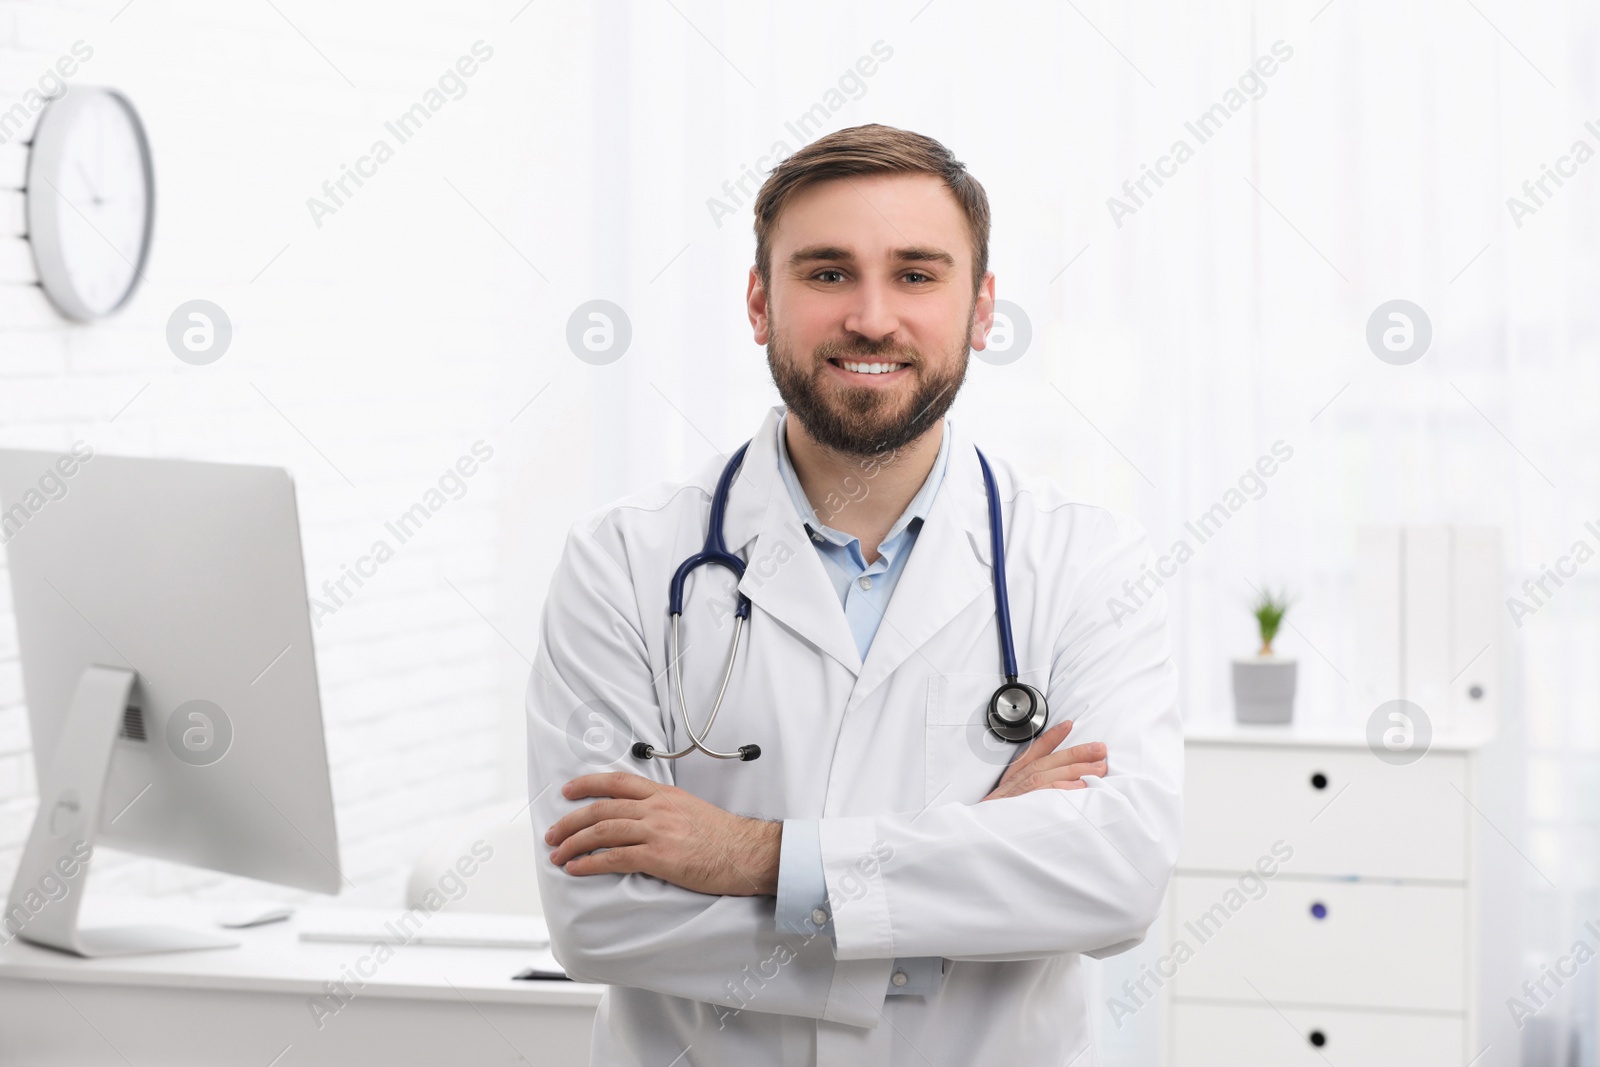
[[[1178,997],[1466,1011],[1467,893],[1456,886],[1178,875]],[[1322,910],[1322,918],[1315,909]]]

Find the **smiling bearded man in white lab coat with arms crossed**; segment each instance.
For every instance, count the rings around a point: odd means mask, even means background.
[[[594,1064],[1096,1061],[1082,957],[1138,944],[1178,856],[1182,741],[1138,523],[998,488],[1019,680],[1050,725],[986,726],[1002,683],[987,496],[946,418],[994,318],[982,187],[888,126],[787,157],[755,205],[747,307],[784,405],[696,569],[683,702],[669,581],[725,456],[568,534],[528,688],[539,893],[568,974],[606,982]],[[987,454],[987,453],[986,453]],[[1070,737],[1069,737],[1070,734]]]

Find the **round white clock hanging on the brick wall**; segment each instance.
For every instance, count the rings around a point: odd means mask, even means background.
[[[74,86],[38,117],[27,162],[27,235],[38,282],[69,318],[128,301],[150,248],[150,147],[122,93]]]

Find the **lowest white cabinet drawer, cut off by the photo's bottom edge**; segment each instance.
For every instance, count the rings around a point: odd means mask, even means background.
[[[1173,1005],[1174,1067],[1461,1067],[1461,1016]],[[1314,1033],[1323,1043],[1312,1045]]]

